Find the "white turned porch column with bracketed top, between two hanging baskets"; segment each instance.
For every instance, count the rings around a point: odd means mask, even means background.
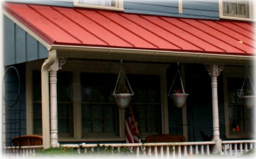
[[[221,153],[221,139],[219,126],[219,106],[217,94],[217,76],[223,70],[224,65],[211,64],[206,65],[206,69],[211,77],[212,86],[212,119],[213,119],[213,140],[216,142],[213,153]]]

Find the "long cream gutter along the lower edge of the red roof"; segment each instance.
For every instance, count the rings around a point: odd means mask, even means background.
[[[253,64],[255,56],[251,55],[228,55],[201,52],[159,51],[143,49],[107,48],[107,47],[84,47],[84,46],[62,46],[50,45],[48,50],[55,49],[58,55],[64,57],[104,57],[105,59],[118,59],[125,56],[129,60],[149,60],[158,62],[188,62],[188,63],[220,63],[220,64]],[[79,51],[79,52],[74,52]],[[138,57],[140,56],[140,59]],[[171,60],[171,61],[170,61]]]

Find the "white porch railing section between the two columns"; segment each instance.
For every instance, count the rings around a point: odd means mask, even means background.
[[[86,148],[88,154],[92,154],[95,148],[105,147],[121,149],[122,147],[129,148],[137,157],[140,156],[155,156],[155,157],[181,157],[193,155],[210,155],[214,141],[206,142],[164,142],[164,143],[114,143],[114,144],[62,144],[62,147]],[[89,148],[89,149],[88,149]]]

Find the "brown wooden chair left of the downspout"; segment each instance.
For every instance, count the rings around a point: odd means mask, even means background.
[[[11,139],[14,146],[39,146],[43,145],[43,138],[39,135],[22,135]]]

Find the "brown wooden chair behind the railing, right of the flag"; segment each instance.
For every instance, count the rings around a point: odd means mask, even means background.
[[[185,136],[182,135],[170,135],[170,134],[163,134],[163,135],[150,135],[147,136],[145,139],[146,143],[160,143],[160,142],[186,142],[187,139]],[[163,147],[163,151],[166,151],[166,146]],[[146,149],[148,153],[148,148]],[[157,149],[158,154],[160,153],[160,147]],[[172,147],[169,148],[170,154],[172,154]],[[181,147],[181,152],[183,153],[183,147]],[[152,150],[151,150],[152,153]],[[175,154],[178,153],[178,146],[175,146]]]

